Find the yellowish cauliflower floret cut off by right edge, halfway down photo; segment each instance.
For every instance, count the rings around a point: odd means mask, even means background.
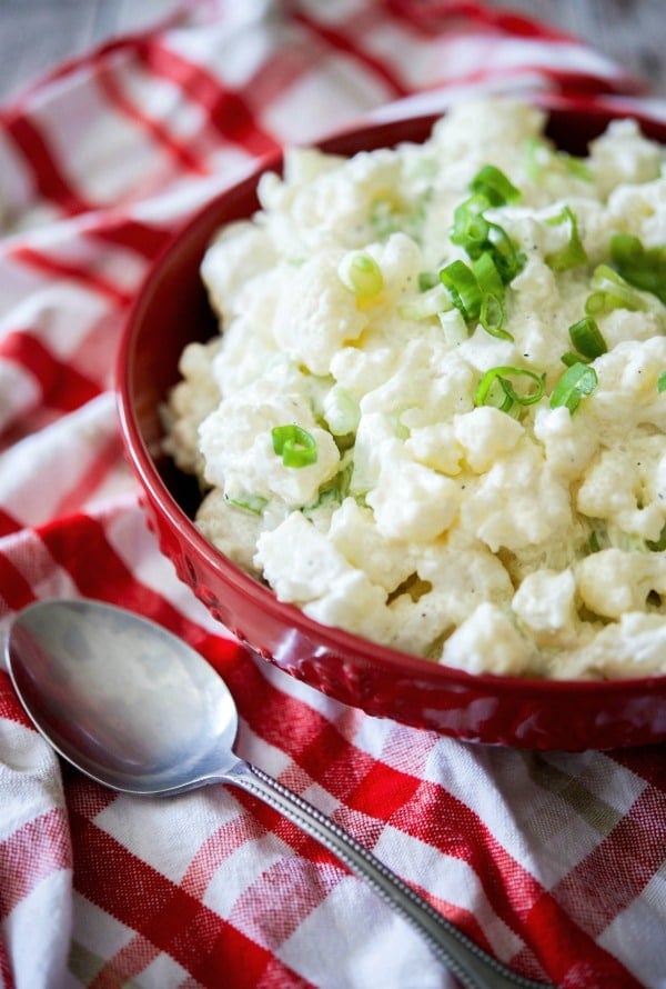
[[[657,542],[666,523],[664,438],[643,436],[604,450],[583,476],[576,507],[629,536]]]

